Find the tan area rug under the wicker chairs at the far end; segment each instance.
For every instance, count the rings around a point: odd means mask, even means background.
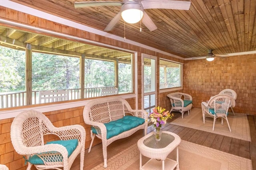
[[[178,112],[172,112],[175,114],[181,114]],[[251,135],[250,135],[250,126],[248,122],[248,117],[246,114],[242,113],[230,113],[228,115],[228,122],[231,128],[231,131],[228,129],[228,124],[226,120],[224,119],[223,125],[221,125],[221,119],[218,118],[215,122],[215,128],[214,131],[212,131],[212,125],[213,125],[213,118],[212,117],[206,117],[205,118],[205,124],[203,123],[203,117],[202,117],[202,109],[200,108],[193,108],[188,115],[187,112],[184,113],[184,118],[178,117],[177,119],[174,119],[170,123],[173,125],[179,125],[183,127],[189,127],[192,129],[197,129],[201,131],[207,131],[211,133],[216,133],[219,135],[224,135],[227,137],[233,137],[236,139],[242,139],[244,141],[251,141]]]

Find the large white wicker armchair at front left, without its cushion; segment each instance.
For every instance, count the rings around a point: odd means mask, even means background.
[[[44,135],[54,134],[60,140],[78,139],[78,146],[68,157],[67,149],[59,144],[44,145]],[[50,120],[35,110],[22,111],[11,125],[11,141],[18,154],[26,155],[28,160],[35,154],[44,164],[34,165],[38,170],[58,169],[69,170],[76,156],[80,154],[80,170],[84,167],[84,149],[86,132],[81,125],[54,127]],[[33,164],[28,162],[27,170]]]

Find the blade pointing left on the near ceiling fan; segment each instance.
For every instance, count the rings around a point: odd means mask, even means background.
[[[95,2],[75,2],[75,8],[84,8],[88,6],[122,6],[123,2],[113,1],[95,1]]]

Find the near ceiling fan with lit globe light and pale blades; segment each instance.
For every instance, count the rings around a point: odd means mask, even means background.
[[[123,18],[127,23],[137,23],[142,19],[142,23],[150,30],[157,29],[154,22],[144,11],[144,9],[172,9],[189,10],[191,2],[177,0],[123,0],[114,1],[93,1],[74,2],[75,8],[95,7],[95,6],[121,6],[121,11],[108,23],[104,31],[110,31],[116,23]]]

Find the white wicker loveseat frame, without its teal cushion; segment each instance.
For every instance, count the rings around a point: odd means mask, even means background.
[[[109,123],[110,121],[115,121],[117,119],[123,118],[126,114],[130,114],[134,117],[140,117],[145,119],[145,123],[134,127],[128,131],[124,131],[119,135],[113,136],[107,139],[107,130],[104,123]],[[133,110],[128,102],[121,97],[112,96],[101,99],[96,99],[90,101],[84,107],[84,122],[88,125],[92,125],[97,134],[92,133],[92,141],[88,152],[91,151],[92,143],[95,136],[102,140],[102,152],[104,158],[104,168],[107,167],[107,146],[112,142],[128,137],[140,129],[144,129],[144,135],[147,134],[148,128],[148,113],[145,110]]]

